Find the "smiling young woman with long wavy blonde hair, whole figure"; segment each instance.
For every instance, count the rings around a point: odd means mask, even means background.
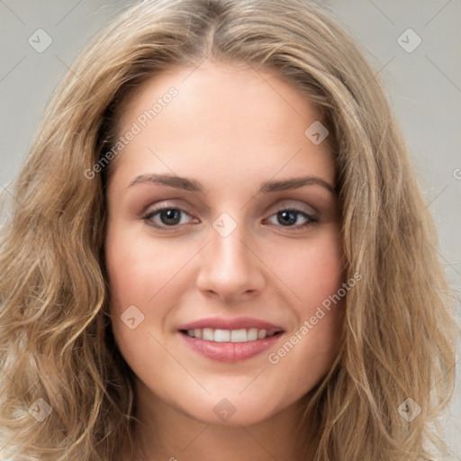
[[[14,459],[433,459],[455,324],[402,134],[299,1],[151,1],[77,59],[0,267]]]

